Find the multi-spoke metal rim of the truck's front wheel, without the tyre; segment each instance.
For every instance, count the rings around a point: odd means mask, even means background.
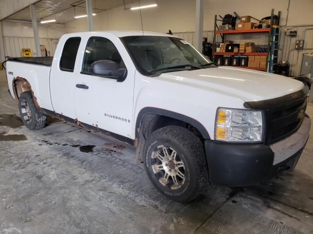
[[[151,167],[160,184],[179,189],[185,182],[185,165],[177,152],[168,146],[159,145],[151,155]]]

